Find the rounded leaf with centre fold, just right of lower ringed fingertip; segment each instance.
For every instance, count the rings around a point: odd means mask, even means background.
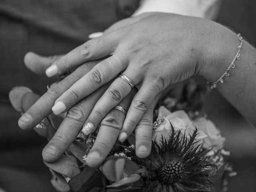
[[[102,165],[102,173],[108,180],[118,181],[122,177],[125,162],[124,157],[108,157]]]

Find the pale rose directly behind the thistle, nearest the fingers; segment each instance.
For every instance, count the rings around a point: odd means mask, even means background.
[[[160,106],[158,109],[158,117],[162,117],[163,122],[153,132],[153,139],[156,138],[156,141],[160,141],[162,136],[166,139],[169,138],[170,133],[172,132],[171,124],[174,126],[174,130],[180,130],[180,132],[186,136],[191,135],[196,129],[188,117],[188,114],[183,110],[170,112],[164,106]],[[205,137],[207,137],[207,135],[201,130],[198,131],[196,140],[202,140]]]

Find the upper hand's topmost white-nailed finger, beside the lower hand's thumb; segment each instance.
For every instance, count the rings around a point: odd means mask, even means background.
[[[62,74],[86,61],[108,56],[110,53],[114,52],[118,44],[118,40],[116,38],[116,35],[106,34],[98,38],[88,40],[54,62],[46,69],[46,75],[48,77],[52,77],[57,74]]]

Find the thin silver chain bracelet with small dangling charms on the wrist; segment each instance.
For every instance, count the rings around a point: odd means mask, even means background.
[[[223,82],[224,82],[223,78],[224,78],[225,76],[226,76],[226,77],[229,76],[229,70],[230,70],[231,68],[235,68],[235,67],[236,67],[235,64],[234,64],[234,62],[235,62],[235,60],[239,60],[239,57],[240,57],[240,54],[239,54],[239,53],[240,53],[240,50],[242,49],[242,44],[243,44],[243,41],[244,41],[244,39],[243,39],[243,37],[241,36],[240,33],[238,33],[237,35],[238,35],[239,40],[240,40],[240,45],[238,46],[238,50],[237,50],[236,56],[234,57],[233,61],[232,61],[231,64],[228,66],[228,68],[227,68],[227,70],[224,72],[224,74],[223,74],[217,81],[215,81],[215,82],[213,82],[213,83],[207,82],[208,84],[210,84],[210,88],[211,88],[211,89],[215,89],[218,82],[223,83]]]

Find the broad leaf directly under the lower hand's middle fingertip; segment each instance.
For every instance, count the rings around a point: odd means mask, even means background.
[[[74,156],[62,155],[60,158],[58,158],[58,160],[52,163],[44,161],[44,164],[46,164],[46,166],[52,170],[69,178],[73,178],[74,176],[80,174],[80,169]]]

